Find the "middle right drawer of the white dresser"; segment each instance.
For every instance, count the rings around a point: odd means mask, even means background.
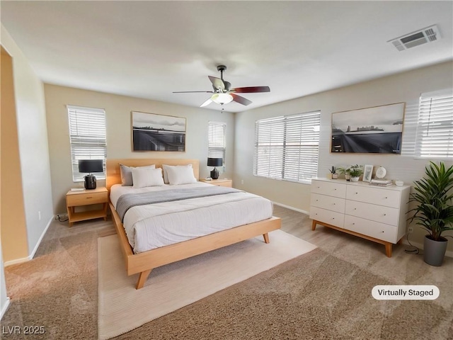
[[[362,217],[367,220],[398,226],[399,210],[370,203],[347,200],[345,213],[347,215]]]

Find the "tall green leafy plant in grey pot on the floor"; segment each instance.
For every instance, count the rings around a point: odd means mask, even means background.
[[[414,182],[414,192],[409,202],[417,203],[410,222],[428,231],[423,242],[423,259],[431,266],[440,266],[444,260],[448,240],[443,232],[453,230],[453,166],[430,162],[425,176]]]

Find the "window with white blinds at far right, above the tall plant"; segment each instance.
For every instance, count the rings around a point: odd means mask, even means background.
[[[452,159],[452,89],[421,94],[415,137],[415,157]]]

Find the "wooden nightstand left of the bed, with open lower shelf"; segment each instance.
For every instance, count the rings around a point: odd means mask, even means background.
[[[76,212],[76,207],[102,204],[103,208],[98,210],[86,210]],[[66,194],[66,208],[68,210],[69,227],[74,222],[100,218],[107,220],[108,191],[105,187],[84,191],[68,191]]]

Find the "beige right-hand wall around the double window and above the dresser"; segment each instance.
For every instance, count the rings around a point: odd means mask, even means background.
[[[413,183],[424,174],[425,160],[410,155],[379,154],[331,154],[331,114],[357,108],[381,106],[389,103],[406,102],[408,107],[417,106],[422,92],[453,87],[453,63],[445,62],[431,67],[415,69],[390,77],[384,77],[361,84],[334,89],[320,94],[305,96],[243,113],[236,113],[236,140],[234,149],[234,182],[237,188],[257,193],[270,200],[309,211],[309,184],[276,181],[253,176],[253,137],[255,121],[279,115],[290,115],[321,110],[321,135],[318,176],[326,176],[331,166],[349,164],[372,164],[384,166],[387,177]],[[406,111],[407,111],[406,107]],[[403,132],[403,142],[408,137]],[[446,164],[451,165],[452,161]],[[241,184],[243,181],[243,184]],[[414,227],[413,240],[423,244],[425,232]],[[449,242],[453,251],[453,242]]]

